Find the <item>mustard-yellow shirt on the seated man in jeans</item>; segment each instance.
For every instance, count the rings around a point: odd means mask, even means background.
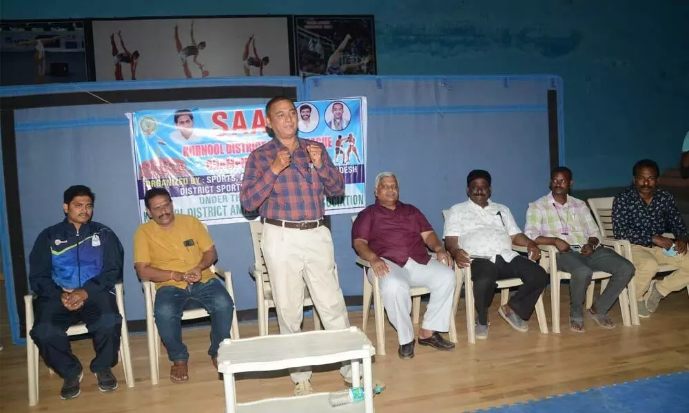
[[[176,213],[172,231],[166,231],[154,220],[136,229],[134,234],[134,264],[151,264],[165,271],[186,273],[203,258],[203,253],[213,246],[208,230],[196,217]],[[215,275],[205,269],[201,281],[207,282]],[[187,288],[183,281],[156,282],[156,289],[162,286]]]

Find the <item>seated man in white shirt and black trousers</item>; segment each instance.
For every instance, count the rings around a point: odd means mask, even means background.
[[[471,267],[477,339],[488,338],[488,308],[497,280],[522,280],[517,293],[497,313],[515,330],[526,332],[527,320],[550,279],[542,266],[531,261],[541,256],[538,246],[520,231],[508,207],[490,200],[491,182],[488,171],[469,172],[469,200],[450,209],[444,228],[445,246],[455,263],[462,268]],[[526,246],[531,260],[512,251],[513,244]]]

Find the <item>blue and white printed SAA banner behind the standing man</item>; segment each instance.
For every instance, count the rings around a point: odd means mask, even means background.
[[[366,98],[295,103],[298,136],[321,142],[345,178],[345,196],[327,198],[328,215],[366,207]],[[176,213],[205,224],[247,222],[239,191],[249,153],[271,138],[265,105],[163,109],[128,113],[141,222],[148,216],[145,192],[163,187]]]

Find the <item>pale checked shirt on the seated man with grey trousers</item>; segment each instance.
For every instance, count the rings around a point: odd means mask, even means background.
[[[539,236],[560,238],[570,245],[584,245],[590,237],[601,237],[586,202],[567,195],[561,205],[552,192],[528,204],[524,234],[532,240]]]

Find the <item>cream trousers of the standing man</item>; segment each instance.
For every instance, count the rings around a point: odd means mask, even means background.
[[[319,226],[301,230],[264,224],[260,248],[268,270],[280,334],[301,331],[304,283],[323,328],[349,328],[345,297],[335,277],[335,252],[329,229]],[[351,379],[350,364],[343,365],[340,373],[345,379]],[[311,368],[292,369],[290,377],[294,383],[307,381],[311,379]]]

